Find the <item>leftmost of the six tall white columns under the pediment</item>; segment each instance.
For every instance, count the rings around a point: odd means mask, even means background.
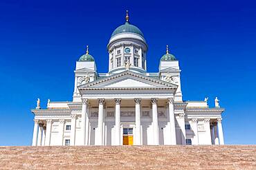
[[[86,112],[87,112],[87,104],[88,99],[82,98],[82,115],[81,115],[81,133],[82,133],[82,142],[81,145],[86,145],[86,139],[85,139],[85,131],[86,131]]]

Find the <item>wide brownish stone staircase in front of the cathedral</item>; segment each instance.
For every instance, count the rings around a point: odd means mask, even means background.
[[[256,145],[0,147],[0,169],[256,169]]]

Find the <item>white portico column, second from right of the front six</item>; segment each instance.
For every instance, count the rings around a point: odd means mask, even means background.
[[[159,127],[158,127],[158,111],[157,111],[157,98],[152,98],[152,119],[154,128],[154,145],[159,145]]]

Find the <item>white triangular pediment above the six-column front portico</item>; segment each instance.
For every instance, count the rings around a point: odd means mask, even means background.
[[[151,87],[170,87],[176,88],[176,85],[167,83],[165,81],[158,80],[156,78],[150,78],[142,74],[125,71],[119,74],[114,74],[106,78],[102,78],[98,81],[93,81],[78,87],[79,89],[84,88],[151,88]]]

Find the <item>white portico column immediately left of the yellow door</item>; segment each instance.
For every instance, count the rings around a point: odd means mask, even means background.
[[[115,98],[116,103],[116,145],[120,145],[120,103],[121,98]]]

